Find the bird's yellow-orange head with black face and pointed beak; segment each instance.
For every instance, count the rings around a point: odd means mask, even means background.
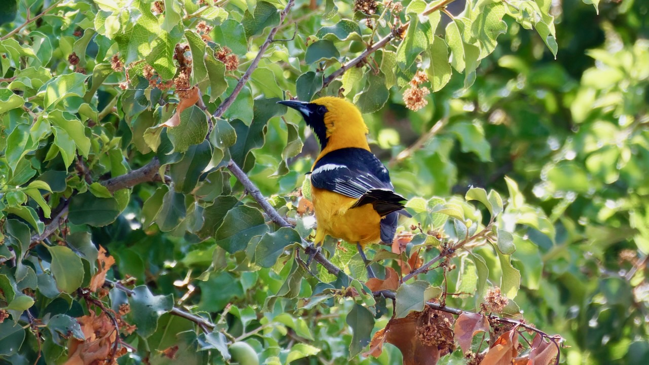
[[[369,150],[367,125],[360,110],[341,97],[325,96],[308,103],[306,101],[280,101],[302,114],[306,125],[311,127],[323,151],[345,147]]]

